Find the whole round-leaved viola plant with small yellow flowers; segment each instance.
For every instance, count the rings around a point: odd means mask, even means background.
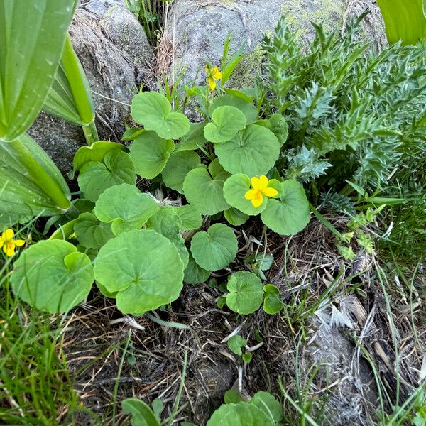
[[[74,217],[16,260],[11,283],[18,297],[64,312],[96,283],[121,312],[141,315],[176,300],[184,283],[232,268],[235,227],[250,217],[280,235],[307,225],[302,185],[274,168],[287,138],[284,116],[261,117],[253,97],[225,89],[228,69],[222,74],[207,64],[206,72],[206,86],[187,89],[205,111],[203,121],[190,123],[163,94],[141,92],[131,104],[137,126],[126,131],[128,148],[97,141],[77,151]],[[168,198],[141,191],[140,178]],[[263,304],[279,312],[278,289],[262,282],[266,263],[253,259],[253,271],[262,266],[257,273],[229,276],[223,300],[231,310],[248,315]]]

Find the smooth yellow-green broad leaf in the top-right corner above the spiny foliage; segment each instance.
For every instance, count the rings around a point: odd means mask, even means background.
[[[426,16],[423,0],[377,0],[386,36],[390,45],[402,41],[403,45],[413,45],[426,38]]]

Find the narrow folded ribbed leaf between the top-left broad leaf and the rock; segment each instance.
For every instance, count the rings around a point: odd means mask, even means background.
[[[58,71],[43,110],[79,126],[87,126],[94,121],[89,82],[72,47],[70,35],[65,40]]]

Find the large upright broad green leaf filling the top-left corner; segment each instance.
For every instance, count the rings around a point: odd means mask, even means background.
[[[75,0],[0,0],[0,139],[33,123],[62,55]]]

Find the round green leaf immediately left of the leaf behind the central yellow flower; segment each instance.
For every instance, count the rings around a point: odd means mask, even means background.
[[[229,207],[224,199],[224,182],[229,174],[224,172],[212,178],[205,168],[195,168],[183,181],[187,201],[201,214],[216,214]]]

